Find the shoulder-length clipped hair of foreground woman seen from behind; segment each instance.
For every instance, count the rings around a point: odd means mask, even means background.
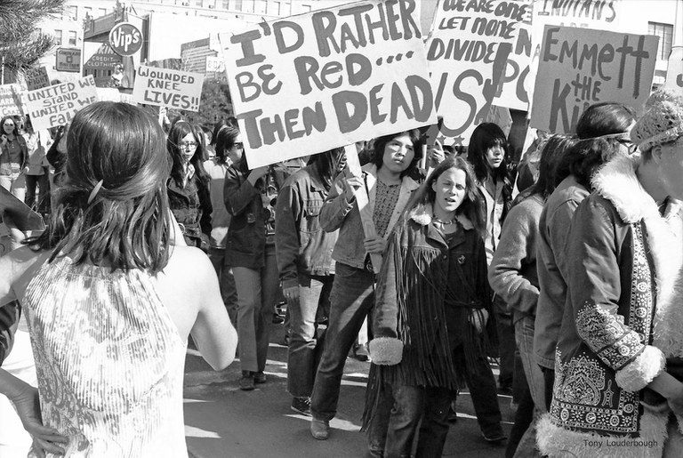
[[[76,113],[68,129],[66,181],[47,229],[28,243],[111,269],[164,269],[171,169],[156,119],[127,103],[100,101]],[[88,204],[92,190],[100,190]]]

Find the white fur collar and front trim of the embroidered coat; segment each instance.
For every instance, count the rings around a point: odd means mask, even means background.
[[[666,216],[661,216],[655,199],[647,194],[636,176],[640,160],[638,156],[615,157],[596,173],[593,189],[615,205],[624,222],[645,223],[657,285],[653,345],[667,357],[683,357],[683,307],[676,301],[683,291],[680,203],[672,201]]]

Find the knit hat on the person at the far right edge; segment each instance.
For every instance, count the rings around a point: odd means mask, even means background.
[[[675,141],[683,136],[683,103],[660,100],[650,104],[647,112],[631,129],[631,141],[640,151]]]

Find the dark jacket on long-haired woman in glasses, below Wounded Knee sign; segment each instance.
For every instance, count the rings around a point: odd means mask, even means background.
[[[181,224],[185,242],[197,247],[202,247],[203,241],[208,243],[213,206],[205,183],[194,173],[185,183],[185,188],[181,188],[173,178],[168,180],[166,188],[168,203],[173,216]]]

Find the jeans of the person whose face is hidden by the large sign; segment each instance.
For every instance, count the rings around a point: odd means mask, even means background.
[[[308,397],[316,378],[316,316],[325,307],[334,277],[299,275],[299,301],[289,301],[289,349],[287,390],[294,397]]]

